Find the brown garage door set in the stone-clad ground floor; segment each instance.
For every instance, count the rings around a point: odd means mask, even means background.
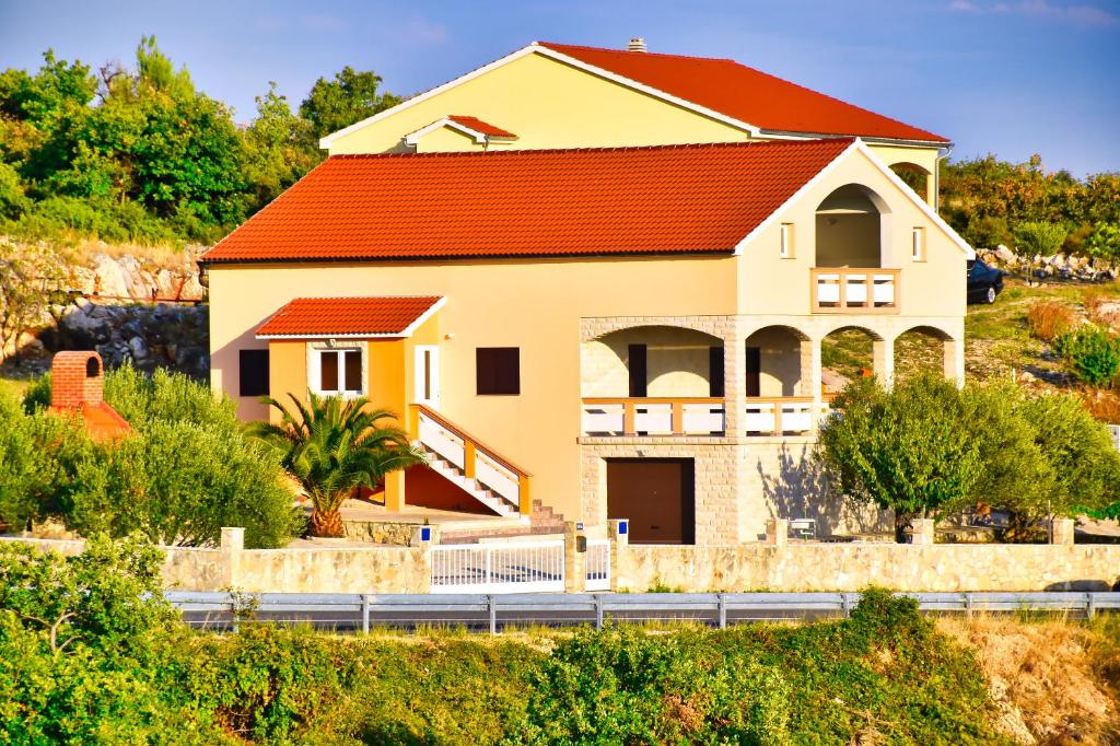
[[[607,517],[629,519],[636,544],[694,543],[692,459],[608,459]]]

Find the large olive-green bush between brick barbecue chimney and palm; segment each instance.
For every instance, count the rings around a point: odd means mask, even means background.
[[[83,534],[141,532],[153,541],[213,545],[223,525],[245,529],[245,544],[287,544],[304,528],[279,458],[242,433],[234,403],[180,373],[150,379],[120,367],[105,375],[105,400],[133,435],[59,455],[49,512]],[[41,419],[50,379],[31,384],[25,409]]]

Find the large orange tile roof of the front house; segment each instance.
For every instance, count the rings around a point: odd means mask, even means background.
[[[729,252],[851,143],[334,156],[203,261]]]

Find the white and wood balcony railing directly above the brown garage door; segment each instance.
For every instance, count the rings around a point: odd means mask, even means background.
[[[592,398],[584,400],[584,435],[724,435],[718,398]]]

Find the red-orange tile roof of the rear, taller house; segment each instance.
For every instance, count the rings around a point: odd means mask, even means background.
[[[764,130],[949,142],[734,59],[538,44]]]

